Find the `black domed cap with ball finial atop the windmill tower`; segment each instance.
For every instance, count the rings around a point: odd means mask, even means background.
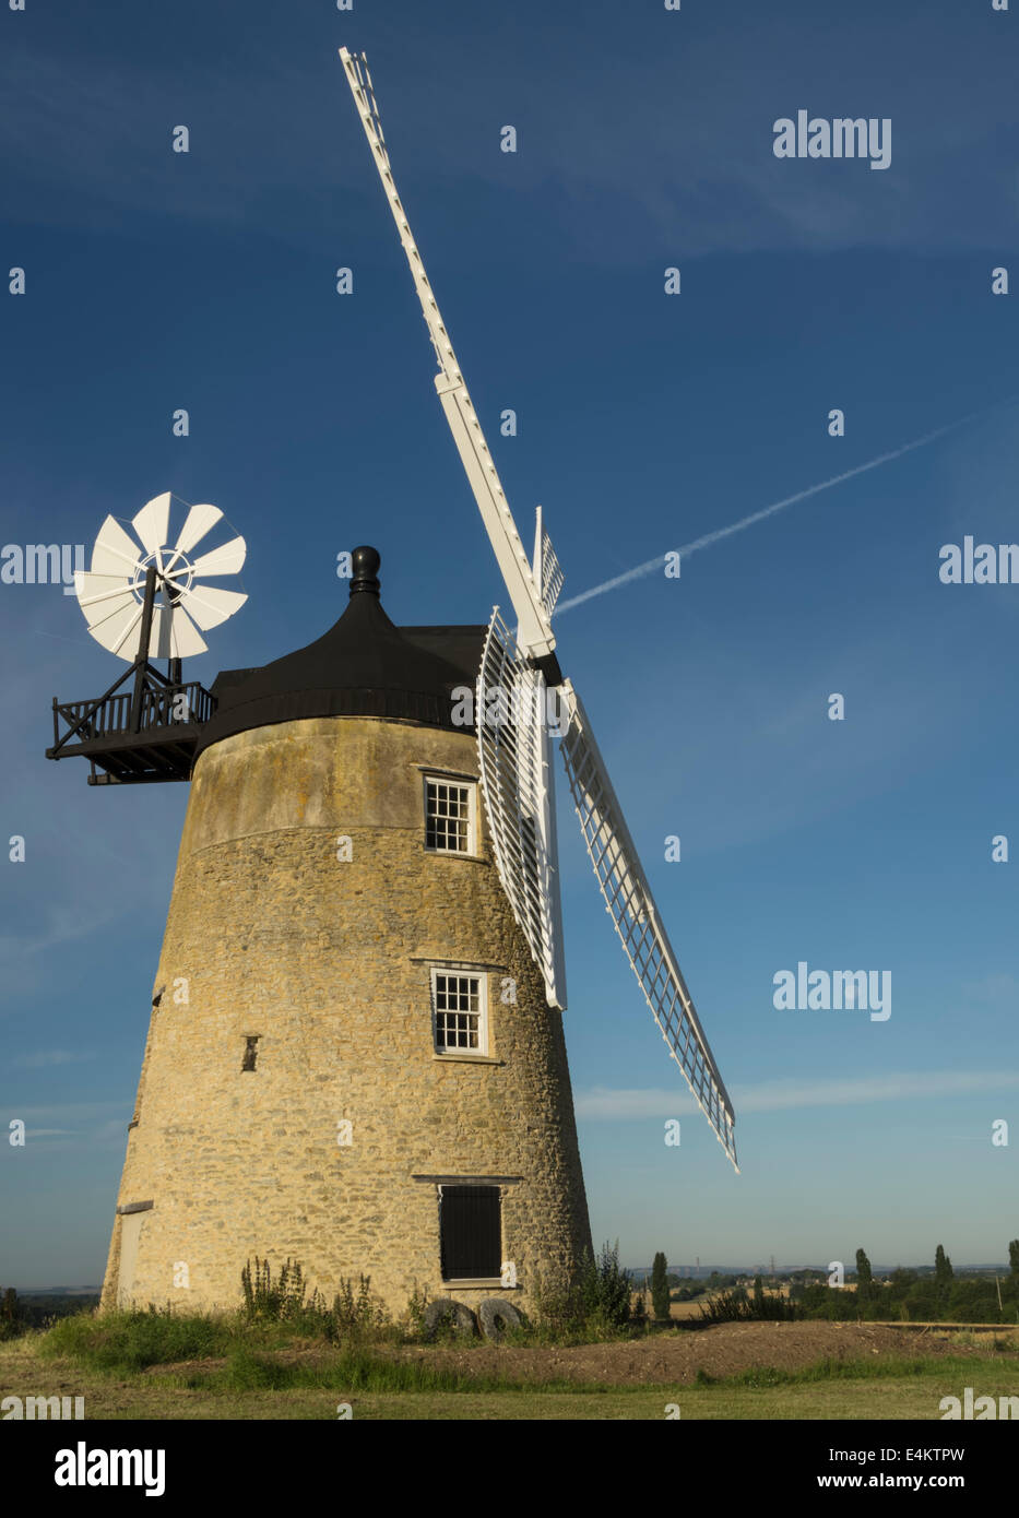
[[[351,554],[351,600],[307,648],[261,669],[220,674],[196,757],[234,733],[307,716],[381,716],[453,727],[453,689],[474,685],[484,627],[401,630],[381,607],[375,548]],[[450,657],[443,654],[448,651]]]

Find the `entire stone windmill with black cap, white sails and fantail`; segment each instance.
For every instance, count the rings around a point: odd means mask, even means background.
[[[541,512],[528,563],[364,62],[340,56],[515,628],[498,607],[487,627],[393,625],[378,554],[358,548],[330,631],[203,691],[181,674],[181,656],[205,647],[185,612],[207,627],[237,607],[235,592],[197,581],[235,572],[243,540],[194,559],[220,513],[191,507],[173,539],[170,496],[134,519],[143,550],[103,525],[79,600],[121,657],[141,624],[134,695],[55,701],[47,754],[84,754],[93,783],[191,782],[106,1304],[235,1304],[255,1254],[299,1258],[327,1295],[371,1275],[393,1310],[415,1287],[527,1307],[539,1277],[576,1272],[591,1234],[560,1022],[554,736],[626,956],[735,1164],[732,1104],[559,668],[562,572]]]

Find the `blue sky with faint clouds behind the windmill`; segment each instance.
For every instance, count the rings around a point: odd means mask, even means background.
[[[1019,1236],[1019,864],[990,858],[998,833],[1019,849],[1019,586],[939,580],[943,543],[1019,539],[1019,15],[888,9],[29,0],[0,18],[0,246],[27,278],[0,299],[0,539],[91,548],[161,490],[214,501],[248,539],[251,600],[191,662],[207,685],[323,631],[357,542],[383,553],[396,622],[504,601],[342,44],[369,55],[518,525],[527,542],[541,501],[565,598],[975,416],[557,621],[738,1119],[737,1176],[560,783],[592,1228],[632,1261],[863,1245],[905,1263],[940,1242],[958,1264]],[[890,118],[890,167],[776,159],[773,121],[800,108]],[[187,789],[94,791],[43,757],[52,695],[120,668],[73,597],[0,584],[0,832],[27,850],[0,867],[0,1131],[29,1126],[0,1145],[0,1281],[87,1283]],[[799,961],[888,970],[891,1017],[776,1011]]]

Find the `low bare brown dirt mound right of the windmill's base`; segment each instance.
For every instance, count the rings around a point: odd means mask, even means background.
[[[1013,1342],[1011,1353],[1019,1350]],[[601,1381],[606,1386],[689,1386],[703,1369],[721,1378],[750,1368],[803,1369],[819,1360],[864,1360],[872,1354],[923,1359],[957,1354],[986,1359],[992,1343],[961,1345],[954,1336],[881,1324],[717,1324],[712,1328],[676,1334],[651,1334],[624,1343],[586,1343],[574,1348],[478,1345],[457,1348],[409,1348],[402,1359],[427,1359],[465,1375],[506,1375],[519,1381],[562,1377],[569,1381]]]

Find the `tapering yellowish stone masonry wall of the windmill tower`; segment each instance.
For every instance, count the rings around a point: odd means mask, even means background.
[[[316,718],[199,757],[118,1196],[152,1202],[134,1301],[234,1305],[258,1254],[273,1274],[301,1260],[330,1299],[364,1272],[395,1313],[415,1287],[527,1307],[536,1272],[569,1272],[589,1246],[562,1016],[500,885],[480,788],[480,858],[425,850],[425,768],[477,776],[472,736]],[[487,976],[487,1060],[436,1055],[430,961]],[[442,1178],[503,1187],[516,1290],[443,1286]],[[106,1305],[121,1227],[118,1211]]]

